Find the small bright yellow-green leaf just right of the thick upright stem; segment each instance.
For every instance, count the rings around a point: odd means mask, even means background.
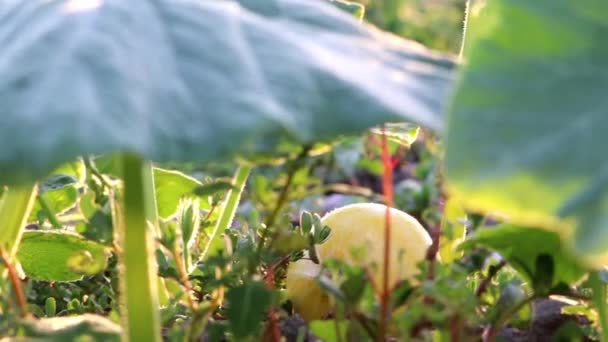
[[[168,218],[175,214],[180,199],[185,196],[193,196],[192,191],[200,186],[199,181],[179,171],[154,168],[158,215]]]

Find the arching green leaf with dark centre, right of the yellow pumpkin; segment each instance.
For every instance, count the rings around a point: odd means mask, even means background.
[[[531,284],[540,281],[546,288],[562,282],[573,284],[586,274],[586,269],[568,254],[559,235],[544,229],[515,225],[481,228],[461,244],[462,248],[472,246],[484,246],[500,253]],[[537,262],[539,256],[541,261]],[[553,260],[550,272],[543,267],[548,257]]]

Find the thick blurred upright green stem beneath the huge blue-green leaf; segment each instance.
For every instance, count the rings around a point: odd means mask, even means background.
[[[123,155],[124,197],[122,208],[118,206],[123,215],[118,215],[116,228],[121,237],[123,340],[131,342],[161,341],[153,232],[147,220],[153,201],[149,167],[136,155]]]

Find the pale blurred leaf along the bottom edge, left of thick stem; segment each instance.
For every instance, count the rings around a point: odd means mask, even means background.
[[[53,317],[21,322],[23,337],[49,342],[63,341],[120,341],[121,328],[109,319],[84,314],[71,317]],[[8,339],[13,341],[13,339]],[[21,341],[15,338],[14,341]]]

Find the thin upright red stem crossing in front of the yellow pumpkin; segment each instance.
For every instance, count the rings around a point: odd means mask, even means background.
[[[386,212],[384,216],[384,262],[382,267],[382,295],[380,296],[380,326],[378,341],[386,338],[386,325],[389,319],[389,270],[390,270],[390,248],[391,248],[391,208],[393,207],[393,159],[388,150],[388,141],[384,125],[382,126],[382,164],[384,172],[382,175],[382,192],[386,201]]]

